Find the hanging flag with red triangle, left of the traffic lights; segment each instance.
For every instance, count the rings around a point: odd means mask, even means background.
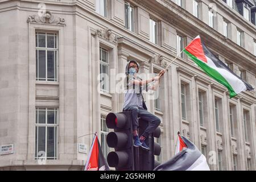
[[[85,165],[85,171],[109,171],[109,165],[104,158],[98,136],[95,135]]]

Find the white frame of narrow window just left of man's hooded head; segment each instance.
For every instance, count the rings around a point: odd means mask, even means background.
[[[104,62],[104,61],[102,61],[102,51],[105,51],[106,52],[106,62]],[[101,72],[100,72],[100,80],[103,80],[103,78],[104,78],[104,80],[106,79],[106,89],[102,89],[102,82],[101,82],[101,92],[104,92],[104,93],[109,93],[109,50],[108,49],[105,49],[105,48],[103,48],[103,47],[100,47],[100,57],[101,57],[101,59],[100,59],[100,68],[101,68],[101,70],[103,70],[102,68],[103,68],[103,65],[105,65],[105,67],[107,67],[107,69],[106,69],[106,71],[107,71],[107,73],[106,73],[106,77],[104,77],[104,75],[103,74],[101,74]]]

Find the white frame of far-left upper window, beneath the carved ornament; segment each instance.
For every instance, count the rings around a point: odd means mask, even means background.
[[[36,44],[37,45],[35,47],[35,55],[37,55],[36,57],[36,81],[58,81],[58,74],[59,74],[59,61],[58,61],[58,57],[59,57],[59,45],[58,45],[58,36],[57,33],[55,32],[48,32],[48,31],[36,31],[35,32],[35,36],[36,36]],[[39,47],[39,36],[45,36],[45,41],[46,41],[46,46],[45,47]],[[47,47],[47,37],[48,36],[53,36],[53,45],[54,48],[48,48]],[[45,57],[46,57],[46,72],[45,72],[45,78],[40,78],[39,77],[39,51],[45,51]],[[48,70],[47,70],[47,51],[53,51],[53,66],[54,66],[54,78],[48,78]]]

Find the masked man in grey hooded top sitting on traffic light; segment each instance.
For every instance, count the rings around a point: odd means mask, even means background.
[[[125,103],[123,105],[123,111],[131,111],[131,119],[133,120],[133,139],[134,146],[142,148],[146,150],[150,150],[144,140],[148,137],[148,135],[152,134],[155,129],[160,125],[160,119],[156,117],[154,114],[151,114],[147,111],[147,107],[144,104],[142,90],[148,91],[156,90],[159,84],[159,78],[164,75],[164,71],[159,73],[159,76],[152,77],[148,80],[143,80],[137,76],[139,71],[139,64],[135,60],[130,60],[126,65],[126,79],[125,79]],[[148,85],[150,82],[155,81],[155,85]],[[148,122],[148,127],[141,135],[138,136],[138,116],[141,117],[144,121]]]

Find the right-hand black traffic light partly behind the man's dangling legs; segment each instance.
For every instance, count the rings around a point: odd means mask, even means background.
[[[143,119],[139,119],[139,135],[141,136],[146,130],[148,122]],[[160,155],[161,146],[158,143],[155,143],[154,138],[159,138],[161,134],[160,127],[157,127],[154,133],[150,134],[146,138],[145,143],[150,150],[139,149],[139,169],[141,171],[152,171],[156,166],[159,166],[159,163],[155,161],[155,155]]]

